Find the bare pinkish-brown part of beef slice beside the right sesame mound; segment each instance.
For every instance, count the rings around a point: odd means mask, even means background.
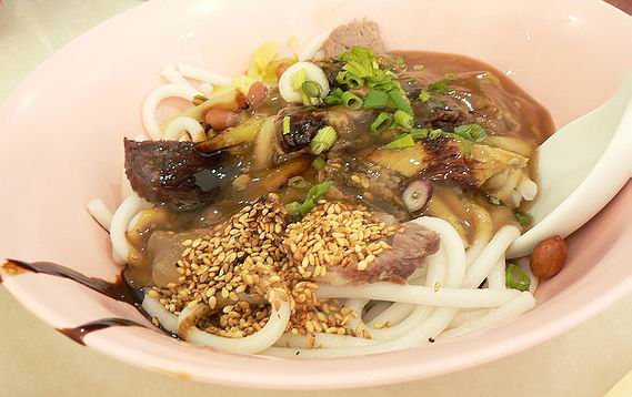
[[[364,271],[358,266],[329,266],[331,284],[361,284],[391,282],[404,284],[425,258],[439,251],[439,234],[414,222],[407,222],[404,231],[393,236],[392,250],[385,250]]]

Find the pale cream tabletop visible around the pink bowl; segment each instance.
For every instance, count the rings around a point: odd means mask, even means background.
[[[611,0],[632,12],[631,0]],[[2,1],[0,1],[2,3]],[[36,65],[139,0],[4,0],[0,6],[0,101]],[[275,396],[181,380],[80,347],[0,287],[0,396]],[[632,369],[632,295],[566,334],[513,356],[413,383],[298,396],[602,396]]]

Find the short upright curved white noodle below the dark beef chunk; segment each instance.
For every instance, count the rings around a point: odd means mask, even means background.
[[[117,263],[124,263],[129,254],[128,224],[139,212],[151,206],[150,203],[139,197],[138,194],[132,193],[114,212],[110,226],[110,241],[112,242],[112,251],[116,254],[114,259]]]

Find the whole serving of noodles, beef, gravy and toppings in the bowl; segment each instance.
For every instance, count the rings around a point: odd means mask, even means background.
[[[163,74],[143,106],[150,140],[124,142],[122,204],[90,204],[157,326],[220,350],[333,357],[533,306],[536,278],[504,251],[529,226],[553,124],[493,68],[388,53],[354,21],[298,55],[264,44],[235,79]],[[170,96],[193,106],[161,125]]]

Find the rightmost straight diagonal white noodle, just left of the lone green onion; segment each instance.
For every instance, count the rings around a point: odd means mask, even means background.
[[[519,236],[520,231],[518,227],[501,227],[468,269],[468,274],[463,281],[463,287],[478,288],[498,264],[498,261],[504,254],[509,245]]]

